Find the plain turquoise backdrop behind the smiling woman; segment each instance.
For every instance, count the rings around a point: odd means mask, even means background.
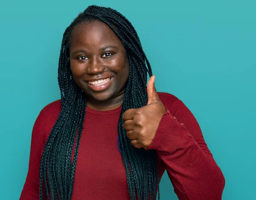
[[[254,0],[1,1],[0,199],[20,196],[35,119],[60,98],[62,34],[91,4],[117,9],[133,23],[157,90],[176,95],[195,115],[225,176],[223,200],[255,199]],[[167,174],[160,193],[177,200]]]

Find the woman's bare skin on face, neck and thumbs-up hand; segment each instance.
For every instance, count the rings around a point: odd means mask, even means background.
[[[108,48],[106,48],[108,47]],[[95,110],[112,110],[122,105],[129,76],[129,61],[122,41],[98,20],[77,25],[70,44],[70,68],[76,84],[87,94],[87,106]],[[98,91],[87,82],[113,77]],[[123,114],[126,136],[136,148],[147,149],[156,134],[166,109],[154,86],[155,76],[147,85],[148,104]]]

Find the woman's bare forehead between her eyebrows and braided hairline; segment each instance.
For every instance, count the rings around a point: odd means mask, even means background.
[[[81,46],[101,48],[106,45],[122,46],[122,42],[108,25],[99,20],[80,23],[73,29],[70,50]]]

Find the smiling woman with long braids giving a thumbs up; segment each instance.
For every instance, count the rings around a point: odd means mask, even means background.
[[[224,177],[195,117],[154,80],[122,14],[99,6],[79,14],[61,44],[61,100],[32,131],[20,199],[156,199],[165,170],[180,200],[221,199]]]

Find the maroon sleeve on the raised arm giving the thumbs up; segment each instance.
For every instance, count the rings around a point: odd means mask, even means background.
[[[157,150],[180,200],[221,200],[224,176],[198,122],[180,100],[167,109],[148,149]]]

